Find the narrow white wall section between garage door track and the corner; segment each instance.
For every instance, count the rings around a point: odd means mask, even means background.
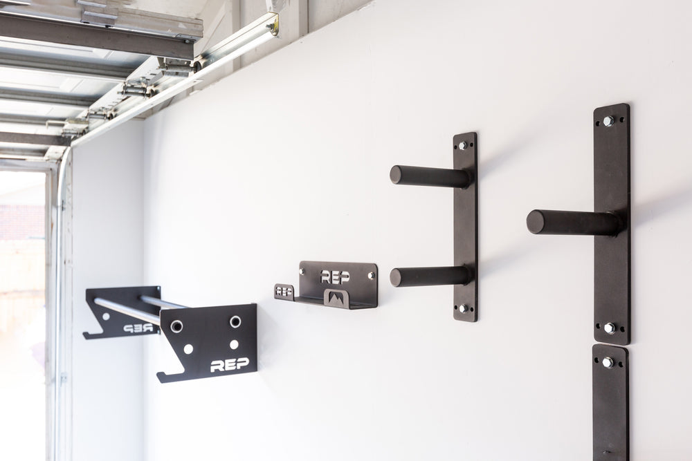
[[[143,279],[142,122],[130,122],[73,155],[73,460],[144,460],[145,337],[84,339],[100,332],[87,288]]]

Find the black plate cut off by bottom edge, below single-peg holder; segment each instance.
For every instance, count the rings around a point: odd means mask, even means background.
[[[594,461],[627,461],[630,459],[627,349],[595,344],[592,367]]]

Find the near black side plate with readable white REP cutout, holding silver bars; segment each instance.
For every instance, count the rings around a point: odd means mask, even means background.
[[[182,322],[179,332],[174,321]],[[161,330],[185,368],[156,373],[162,383],[257,371],[257,304],[163,309]]]

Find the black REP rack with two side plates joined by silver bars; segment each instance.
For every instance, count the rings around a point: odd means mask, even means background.
[[[183,373],[156,373],[162,383],[257,371],[257,305],[188,308],[161,300],[158,286],[86,290],[103,328],[86,339],[149,335],[163,330]]]

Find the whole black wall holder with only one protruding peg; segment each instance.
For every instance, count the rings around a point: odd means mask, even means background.
[[[594,339],[630,344],[630,106],[594,111],[594,212],[534,209],[534,234],[594,237]]]

